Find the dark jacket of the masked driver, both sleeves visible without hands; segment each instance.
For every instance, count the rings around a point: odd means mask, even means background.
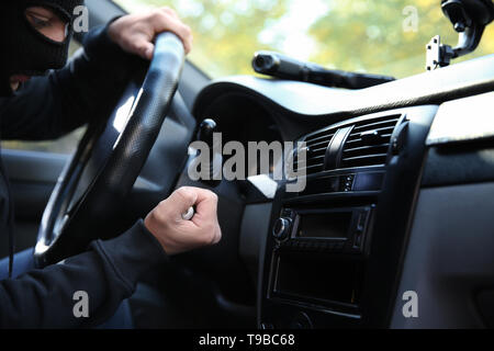
[[[86,36],[85,52],[66,68],[32,79],[15,97],[0,99],[2,139],[59,137],[99,117],[125,86],[130,56],[108,37],[106,27]],[[115,94],[116,92],[116,94]],[[0,177],[0,235],[9,220],[8,181]],[[33,242],[34,244],[34,242]],[[90,245],[64,263],[0,282],[0,328],[91,327],[111,317],[139,276],[167,256],[142,220],[119,238]],[[89,318],[76,318],[74,293],[89,296]]]

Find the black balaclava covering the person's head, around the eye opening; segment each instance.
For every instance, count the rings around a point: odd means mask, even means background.
[[[10,77],[43,76],[67,63],[74,33],[74,9],[83,0],[0,0],[0,97],[12,94]],[[64,42],[58,43],[35,30],[25,16],[31,7],[53,10],[67,26]]]

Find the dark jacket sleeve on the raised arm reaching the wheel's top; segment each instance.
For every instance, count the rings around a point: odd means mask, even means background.
[[[0,99],[1,138],[58,138],[91,120],[104,118],[123,92],[137,57],[108,36],[108,25],[88,33],[68,65],[34,77],[14,97]]]

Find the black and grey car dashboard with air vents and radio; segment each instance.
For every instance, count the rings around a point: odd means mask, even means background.
[[[245,182],[215,190],[238,211],[220,219],[258,327],[492,325],[493,226],[481,210],[494,205],[492,91],[494,56],[355,91],[255,77],[202,90],[193,115],[215,118],[227,139],[306,147],[301,192],[287,182],[270,196]],[[427,306],[420,318],[402,314],[409,291]]]

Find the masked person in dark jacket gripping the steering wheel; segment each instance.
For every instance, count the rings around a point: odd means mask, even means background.
[[[153,41],[161,32],[176,33],[186,52],[190,50],[189,27],[172,10],[156,9],[92,30],[85,37],[85,52],[63,68],[75,9],[82,2],[0,2],[2,139],[53,139],[89,122],[89,116],[99,117],[100,109],[116,102],[134,58],[153,57]],[[10,199],[8,178],[0,167],[0,235],[10,237],[12,244]],[[93,241],[90,250],[60,264],[34,270],[32,250],[0,261],[0,328],[101,325],[133,294],[144,272],[170,254],[220,240],[216,201],[209,191],[182,188],[120,237]],[[201,215],[187,227],[177,218],[192,205]],[[13,262],[13,279],[9,279],[9,261]],[[86,292],[90,301],[83,318],[74,314],[78,291]],[[128,320],[119,321],[112,326],[130,326]]]

